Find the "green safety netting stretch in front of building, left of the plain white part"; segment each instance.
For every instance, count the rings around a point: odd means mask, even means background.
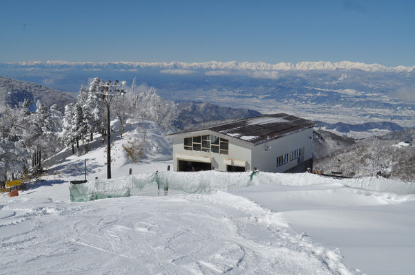
[[[252,185],[256,173],[159,172],[130,175],[117,179],[96,179],[85,184],[70,184],[71,201],[92,201],[136,195],[167,195],[167,193],[210,193]]]

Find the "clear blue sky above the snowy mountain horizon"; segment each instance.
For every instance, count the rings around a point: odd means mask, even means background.
[[[415,65],[415,1],[1,1],[0,62]]]

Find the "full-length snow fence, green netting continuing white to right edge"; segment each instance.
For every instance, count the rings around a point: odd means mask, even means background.
[[[227,191],[252,185],[279,184],[304,186],[312,184],[339,183],[345,186],[368,190],[388,191],[401,194],[415,194],[415,184],[377,179],[333,179],[310,173],[227,173],[219,171],[203,172],[159,172],[130,175],[116,179],[97,179],[85,184],[70,184],[72,201],[92,201],[112,197],[137,195],[167,195],[172,193],[212,193]]]

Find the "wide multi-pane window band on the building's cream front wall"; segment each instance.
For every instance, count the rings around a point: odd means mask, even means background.
[[[203,151],[212,153],[229,154],[229,140],[215,135],[196,135],[185,137],[183,142],[185,150]]]

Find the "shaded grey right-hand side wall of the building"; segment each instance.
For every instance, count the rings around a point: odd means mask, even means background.
[[[313,129],[305,129],[298,133],[286,135],[280,137],[277,140],[271,140],[264,144],[254,146],[252,149],[252,166],[262,171],[282,173],[288,169],[291,169],[298,165],[298,159],[288,161],[279,167],[276,166],[276,158],[288,154],[290,159],[290,153],[298,148],[301,149],[301,156],[305,162],[307,159],[312,158],[312,137]],[[265,151],[265,147],[270,148]]]

